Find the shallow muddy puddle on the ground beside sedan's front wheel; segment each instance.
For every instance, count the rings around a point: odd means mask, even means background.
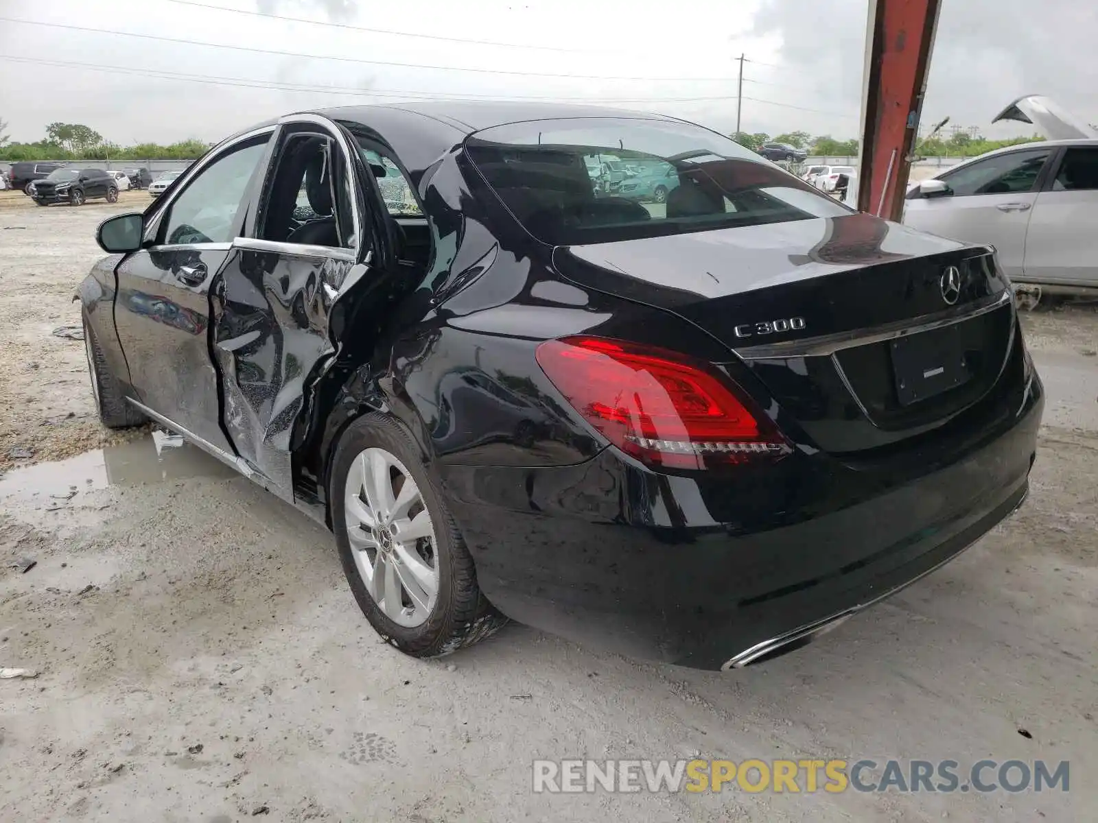
[[[76,501],[83,492],[108,486],[233,476],[236,472],[179,435],[154,431],[152,437],[96,449],[68,460],[10,471],[0,477],[0,500],[34,499],[60,507]]]

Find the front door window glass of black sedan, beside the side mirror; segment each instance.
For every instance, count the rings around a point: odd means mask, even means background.
[[[264,138],[236,148],[199,172],[171,203],[160,243],[229,243],[266,143]]]

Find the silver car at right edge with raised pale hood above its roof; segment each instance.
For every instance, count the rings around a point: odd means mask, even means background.
[[[904,223],[989,244],[1010,278],[1098,288],[1098,132],[1042,97],[996,117],[1032,123],[1050,139],[974,157],[914,185]]]

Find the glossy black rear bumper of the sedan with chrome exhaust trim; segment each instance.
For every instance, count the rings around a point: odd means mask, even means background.
[[[701,668],[827,624],[933,571],[1024,499],[1043,390],[903,461],[797,453],[738,478],[658,475],[607,449],[553,469],[447,466],[485,596],[539,629]],[[761,651],[760,651],[761,650]]]

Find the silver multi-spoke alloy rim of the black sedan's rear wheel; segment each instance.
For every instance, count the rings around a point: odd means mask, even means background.
[[[403,463],[379,448],[363,450],[347,472],[347,538],[366,590],[397,625],[423,624],[438,599],[435,527]]]

